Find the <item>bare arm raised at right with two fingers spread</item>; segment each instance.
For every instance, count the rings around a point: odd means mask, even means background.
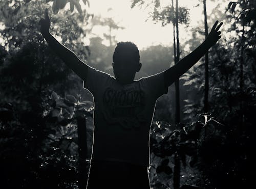
[[[217,43],[217,41],[221,38],[221,32],[218,30],[222,24],[223,22],[218,25],[218,21],[216,21],[214,26],[212,26],[209,35],[200,46],[189,53],[189,55],[181,59],[176,65],[164,71],[165,86],[170,86],[172,83],[174,83],[175,80],[177,80],[182,74],[189,70],[189,68],[196,64],[211,46]]]

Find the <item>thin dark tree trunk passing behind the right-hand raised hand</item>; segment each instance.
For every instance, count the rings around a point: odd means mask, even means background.
[[[208,36],[208,24],[207,24],[207,13],[206,13],[206,0],[203,0],[204,4],[204,30],[205,38]],[[208,50],[205,53],[205,83],[204,83],[204,112],[208,112],[208,93],[209,93],[209,71],[208,71],[209,59]]]

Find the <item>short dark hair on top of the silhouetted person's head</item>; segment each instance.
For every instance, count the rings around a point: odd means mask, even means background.
[[[115,62],[115,60],[117,60],[117,58],[119,58],[121,51],[130,51],[130,52],[132,52],[134,60],[140,62],[139,49],[133,42],[126,41],[126,42],[117,43],[117,46],[116,46],[115,51],[113,53],[113,62]]]

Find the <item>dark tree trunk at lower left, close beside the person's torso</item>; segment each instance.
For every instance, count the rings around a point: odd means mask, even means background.
[[[87,136],[86,136],[86,118],[77,118],[78,132],[78,188],[83,189],[87,186]]]

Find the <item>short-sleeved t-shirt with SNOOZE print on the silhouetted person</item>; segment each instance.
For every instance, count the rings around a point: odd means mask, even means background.
[[[83,87],[94,99],[93,160],[150,165],[150,127],[158,97],[168,92],[163,72],[120,84],[88,68]]]

